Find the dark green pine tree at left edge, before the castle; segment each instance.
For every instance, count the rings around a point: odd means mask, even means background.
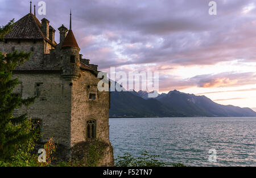
[[[0,27],[0,40],[4,40],[13,24],[14,20],[11,20],[6,26]],[[19,84],[18,79],[12,78],[13,70],[30,56],[31,52],[0,52],[0,161],[10,159],[20,147],[26,147],[28,141],[35,138],[35,132],[31,132],[31,122],[28,124],[27,115],[13,115],[14,109],[23,105],[27,107],[35,100],[35,97],[22,99],[20,95],[12,94],[15,86]]]

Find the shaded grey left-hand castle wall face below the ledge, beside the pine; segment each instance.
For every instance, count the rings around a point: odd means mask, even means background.
[[[70,147],[71,86],[59,73],[15,73],[13,78],[22,82],[15,88],[22,98],[39,92],[39,98],[30,107],[17,109],[15,113],[27,113],[32,119],[42,120],[42,142],[54,137],[55,141]],[[39,86],[38,86],[39,85]]]

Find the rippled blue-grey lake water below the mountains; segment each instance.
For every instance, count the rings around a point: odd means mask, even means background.
[[[110,118],[109,125],[115,158],[147,150],[185,166],[256,166],[256,117]]]

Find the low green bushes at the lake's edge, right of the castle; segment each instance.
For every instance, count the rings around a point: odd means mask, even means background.
[[[118,156],[115,160],[115,166],[117,167],[185,167],[183,164],[167,164],[160,162],[158,159],[159,155],[148,154],[147,151],[142,152],[142,156],[134,158],[129,153],[125,153],[124,156]]]

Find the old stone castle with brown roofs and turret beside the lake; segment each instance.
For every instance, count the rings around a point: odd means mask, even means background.
[[[14,94],[28,98],[38,96],[30,107],[16,109],[27,113],[35,128],[42,133],[40,141],[49,138],[64,147],[72,157],[72,148],[95,139],[104,142],[104,156],[99,166],[114,166],[113,148],[109,141],[110,94],[98,91],[97,65],[82,58],[72,31],[59,27],[60,43],[55,41],[55,29],[46,18],[30,13],[19,19],[13,31],[0,42],[0,52],[15,50],[32,52],[30,60],[13,71],[19,79]],[[66,156],[67,156],[66,155]]]

